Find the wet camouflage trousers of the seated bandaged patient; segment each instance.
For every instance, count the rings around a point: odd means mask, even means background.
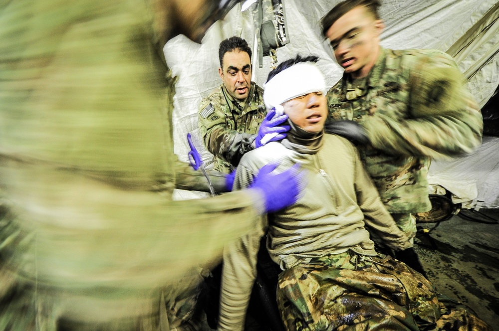
[[[442,305],[421,274],[387,255],[317,258],[279,275],[286,330],[492,330],[465,309]]]

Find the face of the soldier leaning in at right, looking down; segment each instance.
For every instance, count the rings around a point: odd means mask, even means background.
[[[353,78],[366,77],[376,63],[383,27],[381,19],[375,19],[364,6],[357,6],[327,30],[336,61]]]

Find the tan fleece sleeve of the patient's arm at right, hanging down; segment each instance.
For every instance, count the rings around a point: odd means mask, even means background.
[[[355,161],[355,190],[357,203],[364,213],[364,222],[369,231],[373,231],[383,243],[394,250],[404,250],[411,247],[408,237],[397,227],[392,216],[381,202],[378,190],[367,174],[358,151]]]

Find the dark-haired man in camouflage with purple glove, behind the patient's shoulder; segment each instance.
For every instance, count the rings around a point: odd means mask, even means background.
[[[255,139],[266,111],[263,90],[251,82],[251,49],[246,40],[236,36],[223,40],[219,61],[223,83],[201,101],[198,124],[208,151],[216,157],[215,169],[230,172],[246,152],[258,147],[259,139]],[[276,118],[272,124],[277,126],[286,119]],[[268,127],[268,121],[263,126]],[[273,127],[270,125],[267,131]],[[275,130],[289,128],[277,126]]]

